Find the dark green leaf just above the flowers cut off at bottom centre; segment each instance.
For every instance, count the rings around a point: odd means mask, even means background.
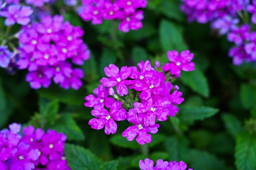
[[[172,136],[164,141],[168,160],[183,160],[188,152],[189,141],[185,137]]]

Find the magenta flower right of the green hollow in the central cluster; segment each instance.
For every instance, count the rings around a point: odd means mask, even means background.
[[[145,71],[143,76],[144,79],[137,80],[134,84],[134,89],[141,91],[139,94],[141,99],[148,100],[151,93],[157,95],[163,90],[162,84],[165,81],[165,75],[163,72]]]

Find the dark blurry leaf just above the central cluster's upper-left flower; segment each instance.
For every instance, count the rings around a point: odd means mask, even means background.
[[[107,49],[107,48],[103,49],[100,66],[99,66],[99,70],[102,77],[106,77],[104,73],[104,68],[109,64],[115,64],[116,61],[117,61],[117,55],[116,53],[114,53],[114,51],[111,51],[110,49]]]

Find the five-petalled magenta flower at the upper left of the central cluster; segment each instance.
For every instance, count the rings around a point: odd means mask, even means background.
[[[126,79],[130,76],[131,71],[130,67],[123,66],[119,73],[119,68],[115,64],[109,64],[108,67],[104,68],[104,72],[110,78],[103,77],[100,82],[105,87],[117,85],[117,93],[120,96],[127,95],[128,89],[126,84],[128,84],[128,81]]]

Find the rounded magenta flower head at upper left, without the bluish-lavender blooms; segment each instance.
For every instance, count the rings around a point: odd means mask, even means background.
[[[28,69],[26,80],[31,88],[47,88],[54,83],[67,89],[82,86],[83,70],[72,68],[90,58],[90,51],[81,39],[83,30],[63,22],[63,17],[44,16],[40,23],[24,26],[19,34],[19,69]]]

